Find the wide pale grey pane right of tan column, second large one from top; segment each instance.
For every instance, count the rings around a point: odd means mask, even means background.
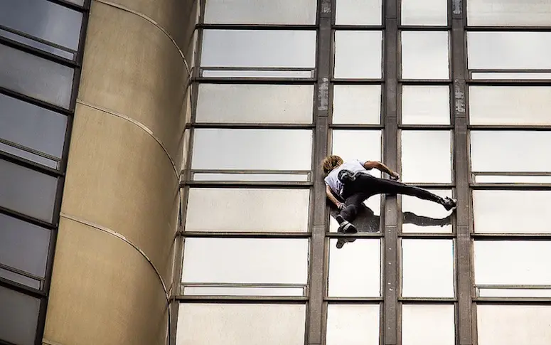
[[[313,68],[316,31],[205,30],[201,66]]]

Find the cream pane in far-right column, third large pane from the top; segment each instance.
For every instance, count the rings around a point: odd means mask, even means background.
[[[471,124],[551,124],[551,87],[470,86]]]

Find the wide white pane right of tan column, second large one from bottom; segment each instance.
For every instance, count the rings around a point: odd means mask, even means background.
[[[309,240],[186,238],[182,282],[306,284]]]

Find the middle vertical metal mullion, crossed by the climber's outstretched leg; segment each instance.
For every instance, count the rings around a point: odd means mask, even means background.
[[[398,14],[400,0],[385,1],[385,139],[383,157],[385,164],[390,169],[397,170],[398,162],[398,117],[397,117],[397,95],[398,95],[398,75],[399,62],[398,52],[399,31],[398,31]],[[398,208],[396,196],[385,196],[385,251],[383,255],[385,281],[383,285],[383,344],[395,345],[398,344],[398,320],[399,307],[398,304]]]

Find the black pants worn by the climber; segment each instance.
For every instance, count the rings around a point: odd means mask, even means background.
[[[403,194],[435,203],[442,202],[441,197],[419,187],[407,186],[398,181],[378,179],[370,174],[356,174],[355,181],[344,184],[343,198],[346,207],[341,211],[341,216],[349,222],[353,221],[363,201],[376,194]]]

